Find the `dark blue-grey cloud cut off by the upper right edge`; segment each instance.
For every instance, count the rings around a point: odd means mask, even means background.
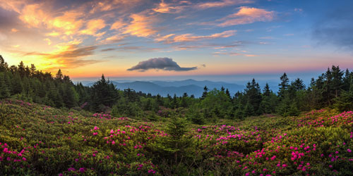
[[[353,49],[352,5],[335,8],[313,25],[312,36],[318,44],[333,44],[340,49]]]

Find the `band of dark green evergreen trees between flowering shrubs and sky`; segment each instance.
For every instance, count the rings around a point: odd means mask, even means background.
[[[57,108],[109,111],[115,116],[150,120],[179,113],[198,124],[262,114],[299,115],[301,111],[324,107],[339,111],[353,109],[353,72],[340,70],[339,66],[333,65],[317,79],[312,78],[308,86],[300,78],[290,81],[284,73],[278,86],[278,92],[273,92],[268,84],[261,89],[253,79],[244,91],[234,95],[225,87],[211,90],[204,87],[200,98],[186,93],[162,97],[117,89],[104,75],[92,87],[74,84],[60,69],[52,75],[37,70],[33,64],[25,66],[22,61],[8,66],[0,56],[0,99],[22,99]]]

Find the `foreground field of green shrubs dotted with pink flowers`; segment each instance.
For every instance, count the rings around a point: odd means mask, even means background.
[[[191,125],[0,103],[0,175],[353,175],[353,112]]]

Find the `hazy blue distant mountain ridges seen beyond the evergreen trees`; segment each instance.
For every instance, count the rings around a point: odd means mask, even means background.
[[[161,96],[167,96],[167,94],[173,96],[182,96],[184,93],[194,95],[196,97],[202,96],[203,87],[207,86],[208,89],[220,89],[225,87],[229,89],[231,94],[235,92],[243,91],[244,86],[239,84],[232,84],[227,82],[212,82],[208,80],[196,81],[196,80],[182,80],[182,81],[134,81],[134,82],[117,82],[112,81],[116,88],[133,89],[136,92],[150,93],[152,95],[160,94]],[[83,82],[87,86],[92,86],[94,82]]]

